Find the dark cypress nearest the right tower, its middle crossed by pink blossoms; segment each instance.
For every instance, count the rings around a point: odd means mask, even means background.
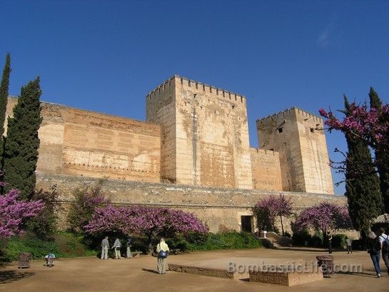
[[[350,116],[350,104],[344,96],[345,116]],[[373,218],[383,211],[380,182],[366,141],[345,134],[348,153],[345,171],[345,196],[355,230],[364,237]]]

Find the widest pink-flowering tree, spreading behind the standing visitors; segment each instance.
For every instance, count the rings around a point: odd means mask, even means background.
[[[137,234],[148,238],[148,251],[152,243],[161,236],[196,231],[207,232],[206,226],[193,213],[169,208],[148,206],[121,206],[96,208],[91,221],[85,226],[88,233],[119,232],[124,235]]]

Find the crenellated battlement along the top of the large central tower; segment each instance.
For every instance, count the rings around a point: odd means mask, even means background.
[[[246,105],[246,96],[243,96],[242,94],[236,94],[233,91],[227,91],[226,89],[220,89],[216,86],[212,86],[212,85],[200,82],[200,81],[188,79],[186,77],[179,76],[179,75],[171,76],[171,78],[164,81],[159,86],[157,86],[155,89],[150,91],[147,94],[146,98],[151,99],[153,96],[160,94],[161,91],[165,91],[166,88],[169,88],[172,85],[173,79],[177,79],[178,83],[181,84],[182,86],[188,86],[188,87],[191,87],[193,89],[196,89],[197,91],[203,91],[203,92],[206,92],[209,94],[214,94],[216,96],[223,96],[226,99],[229,99],[230,101],[236,101],[236,102],[240,101],[242,104]]]

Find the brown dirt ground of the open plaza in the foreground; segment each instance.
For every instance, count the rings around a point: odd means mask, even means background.
[[[314,248],[293,248],[270,250],[260,248],[240,251],[208,251],[183,253],[169,256],[171,263],[191,263],[223,258],[288,258],[314,261],[315,256],[325,251]],[[31,268],[19,270],[17,263],[0,268],[0,291],[389,291],[389,276],[381,261],[383,277],[376,278],[373,263],[368,253],[344,251],[333,253],[335,264],[347,267],[362,265],[361,273],[335,273],[332,278],[287,287],[265,283],[253,283],[245,279],[230,280],[167,271],[165,275],[156,273],[156,258],[141,256],[120,260],[99,258],[56,259],[55,266],[48,268],[44,261],[32,261]]]

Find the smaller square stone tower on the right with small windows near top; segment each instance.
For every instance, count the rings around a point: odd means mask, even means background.
[[[323,120],[293,107],[257,121],[258,147],[279,152],[283,191],[333,193]]]

